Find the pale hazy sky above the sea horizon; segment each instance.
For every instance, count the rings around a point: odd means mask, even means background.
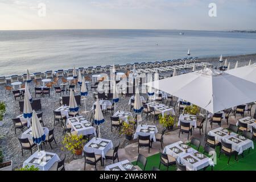
[[[256,30],[255,10],[255,0],[0,0],[0,30]]]

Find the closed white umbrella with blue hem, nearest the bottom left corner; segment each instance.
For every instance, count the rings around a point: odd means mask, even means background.
[[[35,110],[33,110],[32,116],[32,138],[33,142],[38,145],[39,151],[39,144],[46,140],[46,134],[44,134],[43,127],[38,119],[38,116],[36,115]]]

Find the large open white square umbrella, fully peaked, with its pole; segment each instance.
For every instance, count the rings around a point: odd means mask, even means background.
[[[158,85],[157,89],[207,110],[207,115],[208,111],[214,114],[256,101],[256,84],[214,69],[207,68],[157,82],[155,84]],[[205,126],[205,133],[206,131],[207,126]]]

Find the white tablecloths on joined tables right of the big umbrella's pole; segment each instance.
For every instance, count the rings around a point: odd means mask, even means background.
[[[247,150],[250,147],[254,149],[252,140],[245,139],[241,135],[233,132],[228,135],[228,130],[223,129],[222,127],[209,131],[208,135],[214,136],[219,142],[221,142],[221,139],[223,139],[225,142],[231,143],[232,150],[237,151],[238,155],[242,154],[244,150]],[[243,140],[240,137],[242,137]],[[232,139],[238,140],[239,143],[233,142]]]

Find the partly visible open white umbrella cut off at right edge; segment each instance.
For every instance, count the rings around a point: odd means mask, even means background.
[[[256,64],[255,63],[246,67],[230,69],[229,71],[226,71],[226,73],[243,78],[247,81],[256,83]]]

